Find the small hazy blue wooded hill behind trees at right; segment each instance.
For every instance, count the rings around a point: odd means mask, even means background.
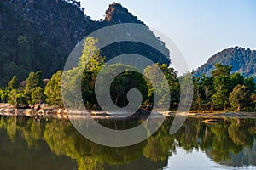
[[[232,72],[238,71],[245,77],[256,77],[256,51],[239,47],[227,48],[213,55],[207,63],[194,71],[195,77],[202,74],[210,76],[216,63],[232,65]]]

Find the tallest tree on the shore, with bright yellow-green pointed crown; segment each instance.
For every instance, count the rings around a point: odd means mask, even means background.
[[[81,107],[82,105],[76,104],[78,101],[78,90],[81,90],[84,103],[87,107],[96,104],[96,97],[94,93],[95,80],[98,71],[101,70],[105,58],[100,55],[100,50],[97,48],[98,40],[93,37],[87,37],[84,40],[84,49],[79,64],[77,67],[65,72],[63,82],[64,90],[63,96],[67,100],[70,107]],[[82,77],[79,77],[82,75]],[[77,89],[77,84],[81,80],[81,89]],[[68,92],[68,94],[66,94]],[[72,94],[72,95],[70,95]],[[68,95],[68,96],[66,96]],[[90,109],[90,108],[88,108]]]

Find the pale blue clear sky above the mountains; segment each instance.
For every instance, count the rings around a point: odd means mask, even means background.
[[[104,18],[113,0],[80,0],[93,20]],[[256,49],[254,0],[118,0],[138,19],[171,38],[189,69],[224,48]]]

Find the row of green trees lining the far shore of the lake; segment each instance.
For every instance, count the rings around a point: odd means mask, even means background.
[[[55,107],[62,107],[61,85],[64,87],[76,87],[77,82],[81,82],[81,93],[84,105],[88,110],[100,110],[101,107],[97,103],[95,94],[95,81],[97,73],[101,71],[105,65],[105,58],[100,55],[100,51],[96,48],[97,40],[93,37],[87,37],[84,40],[83,54],[79,58],[77,67],[65,72],[65,77],[69,82],[62,82],[62,71],[57,71],[50,80],[46,81],[42,77],[42,71],[31,72],[26,81],[20,82],[18,77],[14,76],[8,83],[7,87],[0,88],[0,100],[15,108],[32,108],[36,104],[48,104]],[[90,56],[93,54],[93,57]],[[87,63],[84,68],[84,63]],[[108,65],[106,74],[112,74],[124,67],[129,70],[131,65]],[[179,81],[187,81],[187,77],[177,77],[175,71],[170,65],[154,64],[148,65],[143,71],[143,75],[155,79],[158,75],[154,68],[160,68],[169,84],[169,93],[171,101],[166,101],[163,97],[160,100],[164,105],[170,103],[170,110],[176,111],[179,104],[180,91],[183,89]],[[133,68],[133,70],[136,68]],[[130,69],[131,70],[131,69]],[[256,111],[256,87],[253,77],[244,77],[239,72],[231,73],[231,65],[215,65],[212,70],[211,77],[201,75],[201,77],[193,77],[193,102],[191,110],[193,111]],[[78,72],[82,72],[82,79],[78,76]],[[147,78],[143,77],[136,71],[124,71],[113,79],[110,87],[110,95],[113,103],[119,107],[128,105],[127,94],[130,89],[137,88],[142,94],[142,108],[150,109],[154,105],[154,88]],[[188,73],[190,75],[190,73]],[[191,75],[192,77],[192,75]],[[157,79],[156,79],[157,80]],[[66,84],[69,83],[69,84]],[[159,83],[159,94],[165,96],[168,89],[164,88],[164,84]],[[166,91],[167,90],[167,91]],[[64,95],[64,94],[63,94]],[[64,95],[65,96],[65,95]],[[78,100],[73,95],[71,103]],[[80,98],[79,98],[80,100]],[[73,104],[77,106],[76,104]]]

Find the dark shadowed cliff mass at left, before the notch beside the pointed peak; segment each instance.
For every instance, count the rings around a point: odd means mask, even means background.
[[[61,0],[3,0],[0,9],[1,84],[12,75],[22,80],[29,71],[49,77],[94,29],[82,8]]]

